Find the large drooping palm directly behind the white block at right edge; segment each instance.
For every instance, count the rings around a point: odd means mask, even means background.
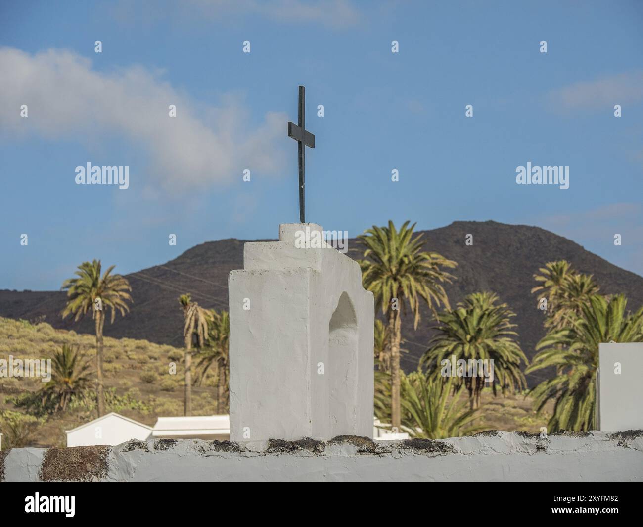
[[[540,351],[526,373],[549,366],[560,372],[531,391],[538,412],[549,400],[555,400],[548,423],[551,432],[595,428],[599,344],[643,342],[643,308],[626,314],[627,302],[624,295],[592,295],[578,319],[566,319],[567,328],[552,329],[536,346]]]

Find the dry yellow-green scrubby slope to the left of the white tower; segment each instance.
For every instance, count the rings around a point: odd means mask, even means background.
[[[78,346],[84,360],[95,374],[96,337],[75,331],[54,329],[45,322],[31,323],[0,317],[0,357],[49,358],[64,344]],[[183,415],[183,350],[154,344],[147,340],[105,337],[105,389],[107,412],[154,425],[157,416]],[[176,364],[176,374],[170,374],[170,364]],[[0,412],[24,410],[16,402],[25,394],[42,387],[37,378],[0,378]],[[213,376],[206,376],[201,386],[193,389],[193,413],[215,414],[216,401]],[[33,423],[32,446],[65,446],[65,430],[96,418],[95,401],[72,404],[66,412],[41,418]],[[6,426],[6,423],[4,423]],[[0,422],[0,432],[3,423]],[[6,436],[3,439],[7,439]]]

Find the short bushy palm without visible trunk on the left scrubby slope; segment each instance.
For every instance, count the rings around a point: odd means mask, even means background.
[[[42,406],[64,412],[71,400],[84,399],[91,382],[88,371],[78,347],[63,344],[51,360],[51,380],[40,391]]]

